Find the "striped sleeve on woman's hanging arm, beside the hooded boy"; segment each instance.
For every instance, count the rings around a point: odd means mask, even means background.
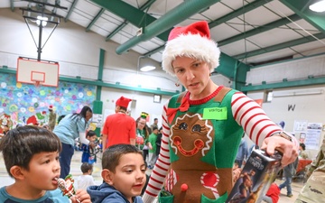
[[[163,188],[163,181],[170,168],[170,152],[169,152],[169,134],[170,127],[167,123],[167,105],[163,106],[163,136],[160,154],[156,161],[147,188],[145,189],[143,201],[144,203],[153,202],[154,198],[158,195],[160,190]]]

